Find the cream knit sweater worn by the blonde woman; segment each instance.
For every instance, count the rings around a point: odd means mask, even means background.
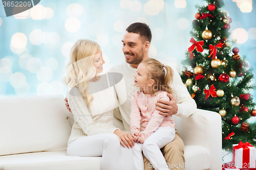
[[[68,145],[82,136],[114,133],[118,129],[113,124],[113,109],[118,107],[117,96],[114,87],[109,88],[107,76],[102,75],[99,81],[89,82],[88,93],[94,97],[89,107],[83,100],[78,86],[68,88],[67,98],[74,115]]]

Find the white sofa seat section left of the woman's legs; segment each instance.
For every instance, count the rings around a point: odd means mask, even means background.
[[[66,151],[34,152],[0,156],[6,170],[100,170],[101,157],[67,156]]]

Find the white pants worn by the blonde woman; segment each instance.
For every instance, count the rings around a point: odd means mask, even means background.
[[[122,147],[117,135],[103,133],[79,137],[69,143],[69,156],[102,156],[102,170],[134,169],[133,149]]]

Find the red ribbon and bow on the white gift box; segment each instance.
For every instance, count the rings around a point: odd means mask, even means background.
[[[240,141],[238,145],[233,147],[233,162],[234,162],[235,150],[243,148],[243,165],[246,164],[246,166],[243,168],[249,168],[247,167],[250,162],[250,149],[248,147],[253,147],[253,146],[249,142],[243,143],[242,141]]]

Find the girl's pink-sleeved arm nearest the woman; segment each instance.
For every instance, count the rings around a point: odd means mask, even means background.
[[[131,134],[140,132],[140,109],[137,104],[137,91],[131,97],[130,131]]]

